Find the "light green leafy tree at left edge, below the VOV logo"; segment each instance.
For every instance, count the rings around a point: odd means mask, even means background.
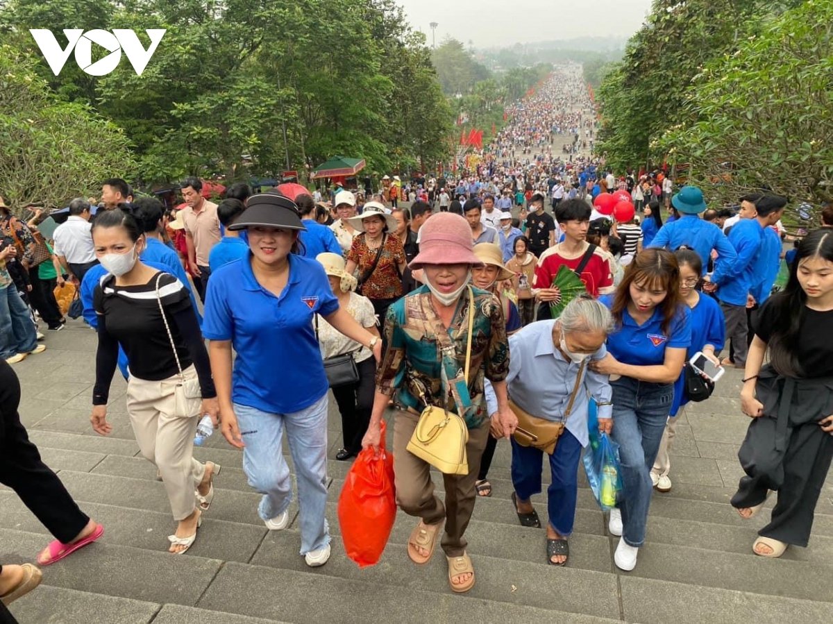
[[[112,172],[129,175],[135,162],[124,133],[90,107],[60,101],[38,62],[0,46],[0,188],[17,207],[62,207]]]

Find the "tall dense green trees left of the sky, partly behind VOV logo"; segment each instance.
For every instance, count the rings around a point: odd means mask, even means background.
[[[392,0],[38,2],[0,12],[0,31],[31,52],[31,27],[128,27],[145,46],[142,29],[167,28],[142,76],[122,62],[89,77],[72,57],[58,77],[40,67],[61,97],[127,132],[148,184],[277,174],[287,152],[302,172],[335,154],[382,172],[440,157],[451,127],[424,38]]]

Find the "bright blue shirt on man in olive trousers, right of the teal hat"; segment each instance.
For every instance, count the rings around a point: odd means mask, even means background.
[[[729,232],[729,242],[737,252],[736,262],[715,267],[711,282],[717,284],[717,298],[731,306],[746,306],[746,295],[756,283],[756,259],[761,251],[764,228],[757,219],[741,219]]]

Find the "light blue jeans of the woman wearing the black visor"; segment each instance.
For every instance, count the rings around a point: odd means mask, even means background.
[[[295,465],[300,509],[301,554],[330,543],[327,507],[327,395],[300,412],[272,414],[234,404],[243,443],[243,472],[263,494],[263,520],[280,516],[292,502],[292,478],[281,452],[284,427]]]

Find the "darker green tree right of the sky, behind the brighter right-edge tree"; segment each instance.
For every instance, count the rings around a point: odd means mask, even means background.
[[[645,25],[599,89],[596,151],[619,170],[646,164],[651,141],[678,122],[686,87],[702,67],[735,52],[763,21],[799,3],[654,0]]]

